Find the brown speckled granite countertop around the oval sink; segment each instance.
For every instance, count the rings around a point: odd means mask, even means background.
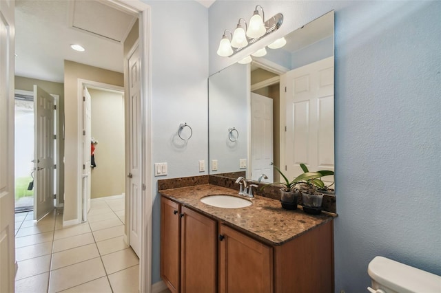
[[[253,204],[245,208],[216,208],[204,204],[201,198],[218,194],[242,196],[234,189],[212,184],[166,189],[159,193],[273,246],[281,245],[337,217],[327,212],[308,215],[300,206],[297,210],[285,210],[278,200],[260,196],[251,198]]]

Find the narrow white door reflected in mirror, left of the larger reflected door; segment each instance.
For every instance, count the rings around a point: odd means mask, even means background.
[[[267,175],[265,182],[274,182],[271,166],[274,157],[273,144],[273,99],[251,94],[251,177],[258,180]]]

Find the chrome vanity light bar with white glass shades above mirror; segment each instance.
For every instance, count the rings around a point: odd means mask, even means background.
[[[262,10],[262,16],[260,17],[260,13],[258,8]],[[243,29],[243,24],[245,23],[245,30]],[[254,14],[250,19],[249,23],[245,21],[245,19],[240,18],[234,30],[234,34],[232,34],[229,30],[225,30],[222,36],[222,40],[220,40],[217,54],[219,56],[228,57],[236,54],[240,50],[245,49],[249,45],[252,45],[265,37],[267,34],[271,34],[272,32],[276,32],[278,28],[283,23],[283,14],[278,13],[271,17],[267,21],[265,21],[265,12],[263,11],[262,6],[256,6],[254,10]],[[231,41],[227,36],[227,31],[231,35]],[[262,55],[263,56],[263,55]]]

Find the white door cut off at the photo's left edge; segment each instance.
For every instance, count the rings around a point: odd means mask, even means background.
[[[14,292],[14,1],[0,1],[0,292]]]

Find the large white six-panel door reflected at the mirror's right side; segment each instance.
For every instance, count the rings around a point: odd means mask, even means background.
[[[286,80],[288,177],[302,173],[300,163],[334,171],[334,57],[291,70]]]

